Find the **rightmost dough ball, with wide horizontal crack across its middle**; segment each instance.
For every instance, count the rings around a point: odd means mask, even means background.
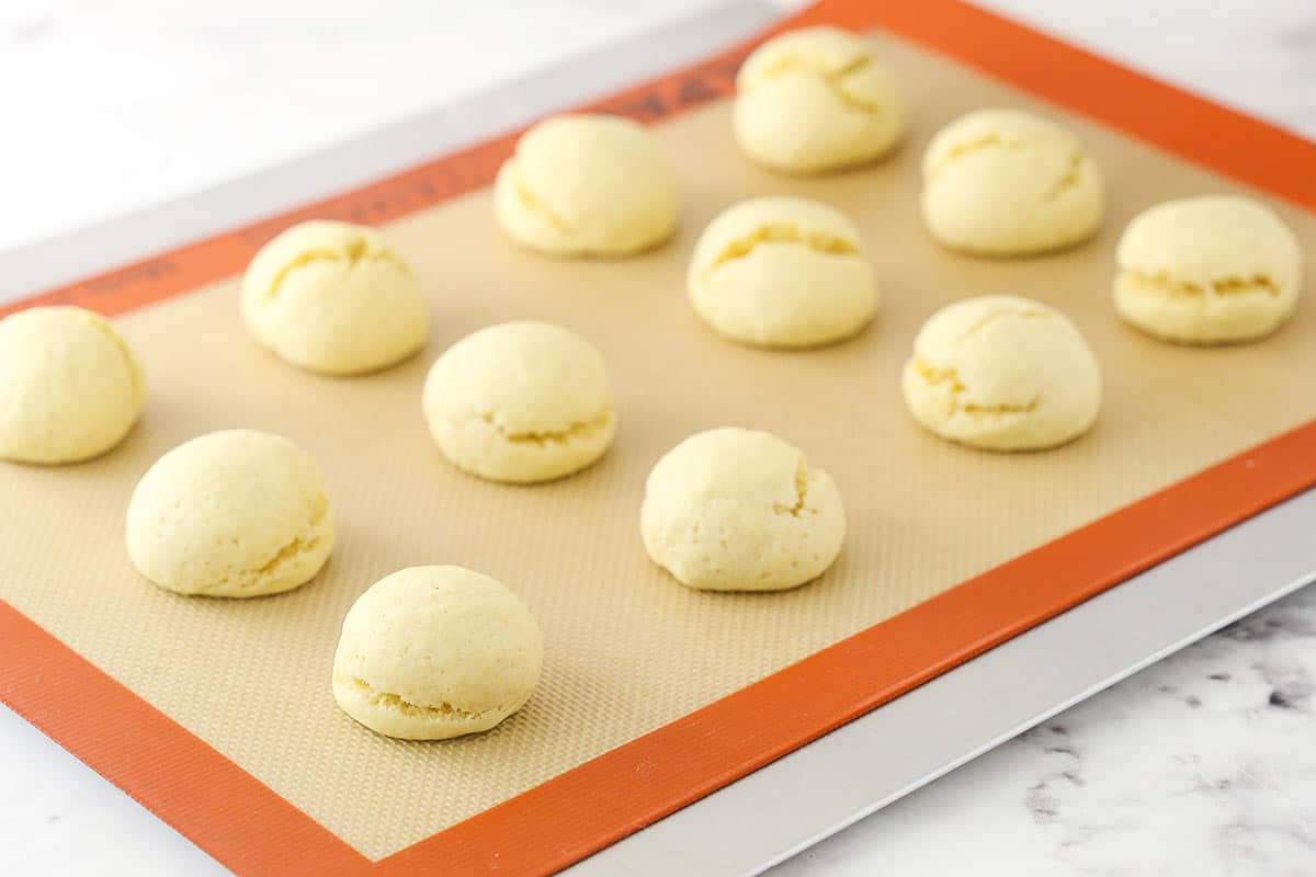
[[[1250,199],[1217,195],[1158,204],[1129,222],[1115,260],[1115,309],[1166,341],[1261,338],[1298,305],[1298,238]]]

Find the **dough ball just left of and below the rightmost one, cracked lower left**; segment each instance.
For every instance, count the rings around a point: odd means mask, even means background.
[[[1096,422],[1101,372],[1069,317],[1016,296],[966,298],[934,313],[904,367],[913,418],[991,451],[1037,451]]]

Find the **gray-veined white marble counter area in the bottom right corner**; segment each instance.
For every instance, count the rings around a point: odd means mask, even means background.
[[[1316,873],[1316,589],[913,793],[772,877]]]

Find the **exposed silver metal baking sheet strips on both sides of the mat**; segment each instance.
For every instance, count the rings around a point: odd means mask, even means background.
[[[368,183],[554,108],[697,60],[776,14],[779,9],[763,0],[733,1],[240,180],[11,250],[0,254],[0,301]],[[1316,544],[1304,544],[1302,523],[1313,514],[1316,492],[1290,500],[563,873],[758,873],[1308,584],[1316,577]],[[1274,554],[1267,568],[1257,557],[1259,546]],[[1130,618],[1145,626],[1130,631]],[[1045,660],[1034,660],[1041,656]],[[1013,680],[1029,685],[1012,686]],[[950,713],[955,722],[948,723]]]

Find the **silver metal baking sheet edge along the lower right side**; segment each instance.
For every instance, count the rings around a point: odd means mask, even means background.
[[[1313,517],[1316,490],[1308,490],[563,873],[758,873],[1316,580]]]

